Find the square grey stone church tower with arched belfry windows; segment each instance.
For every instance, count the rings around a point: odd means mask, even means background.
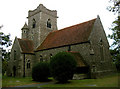
[[[28,12],[28,28],[26,36],[33,40],[36,49],[51,31],[57,30],[57,11],[40,4],[35,10]]]

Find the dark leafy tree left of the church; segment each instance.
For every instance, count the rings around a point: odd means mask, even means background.
[[[0,29],[3,26],[0,26]],[[2,74],[4,75],[6,69],[7,69],[7,62],[10,59],[9,55],[10,52],[7,52],[6,48],[11,46],[11,40],[10,40],[10,34],[5,35],[3,32],[0,31],[0,50],[2,52]]]

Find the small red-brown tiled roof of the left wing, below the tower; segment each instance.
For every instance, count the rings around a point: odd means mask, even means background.
[[[28,39],[19,39],[19,44],[22,50],[22,53],[34,53],[33,41]]]

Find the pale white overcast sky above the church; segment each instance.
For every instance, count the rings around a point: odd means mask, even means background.
[[[27,22],[29,10],[34,10],[43,4],[51,10],[57,10],[58,29],[85,22],[100,16],[106,34],[110,33],[109,27],[115,20],[115,15],[106,8],[109,0],[1,0],[0,25],[2,31],[21,37],[21,28]],[[109,41],[110,42],[110,41]]]

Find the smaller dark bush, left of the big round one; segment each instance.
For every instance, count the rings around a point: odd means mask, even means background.
[[[46,81],[50,75],[49,63],[40,62],[32,69],[32,79],[34,81]]]

